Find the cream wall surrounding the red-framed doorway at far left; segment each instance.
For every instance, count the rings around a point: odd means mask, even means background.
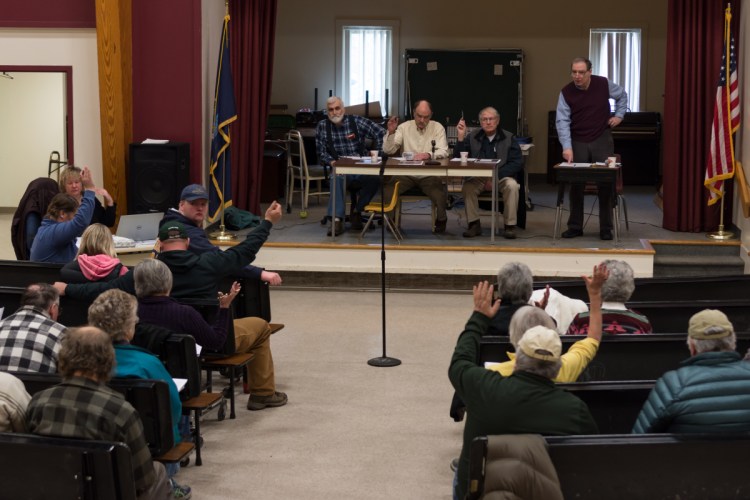
[[[0,29],[0,62],[8,66],[73,67],[73,148],[75,162],[91,168],[95,181],[102,184],[101,128],[99,126],[99,79],[96,58],[96,32],[93,29]],[[9,81],[13,83],[12,81]],[[2,92],[2,87],[0,87]],[[28,130],[16,145],[22,151],[37,151],[33,130]],[[46,146],[43,147],[45,150]],[[23,169],[8,176],[3,170],[3,185],[19,184],[20,192],[0,190],[0,207],[15,207],[26,185],[47,173],[50,151],[44,152],[42,173]],[[0,157],[1,159],[1,157]],[[8,182],[6,183],[6,180]],[[14,188],[16,189],[16,188]]]

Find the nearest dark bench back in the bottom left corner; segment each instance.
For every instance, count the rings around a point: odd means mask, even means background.
[[[0,497],[135,500],[123,443],[0,433]]]

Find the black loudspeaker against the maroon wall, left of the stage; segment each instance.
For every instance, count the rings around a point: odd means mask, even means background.
[[[131,144],[128,213],[166,212],[190,183],[190,144]]]

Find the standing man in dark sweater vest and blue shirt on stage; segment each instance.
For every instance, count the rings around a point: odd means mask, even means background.
[[[611,129],[622,122],[628,94],[603,76],[591,74],[591,61],[573,59],[573,81],[560,91],[557,101],[557,134],[566,162],[603,162],[614,154]],[[615,101],[612,115],[609,100]],[[599,236],[612,239],[612,190],[599,185]],[[583,184],[570,185],[570,217],[563,238],[583,236]]]

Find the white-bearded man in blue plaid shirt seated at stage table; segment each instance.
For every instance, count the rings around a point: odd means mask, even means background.
[[[368,155],[365,139],[370,139],[373,143],[369,150],[380,150],[382,148],[383,135],[385,134],[383,127],[367,118],[347,115],[344,101],[340,97],[329,97],[326,100],[326,110],[328,117],[318,122],[315,129],[315,146],[318,150],[318,160],[321,165],[335,167],[336,161],[342,156]],[[357,182],[361,186],[351,216],[352,229],[361,230],[360,213],[375,195],[380,185],[379,179],[374,175],[347,175],[346,181]],[[333,217],[331,226],[328,227],[328,236],[332,235],[332,229],[335,229],[336,234],[344,232],[345,194],[344,177],[338,175],[331,187],[331,196],[328,199],[327,216]],[[332,214],[334,199],[336,213]]]

